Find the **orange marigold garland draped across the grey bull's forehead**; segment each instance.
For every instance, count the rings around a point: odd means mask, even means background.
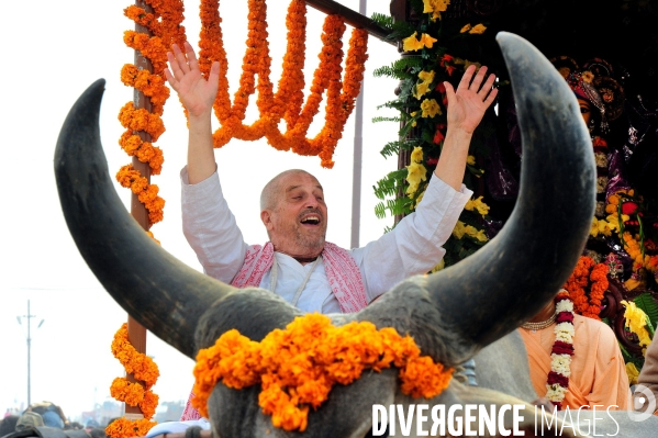
[[[260,383],[258,404],[275,427],[304,431],[309,409],[320,407],[334,384],[391,366],[400,369],[402,392],[413,397],[438,395],[453,377],[451,368],[421,356],[414,340],[393,328],[378,330],[368,322],[335,327],[325,315],[308,314],[260,342],[233,329],[200,350],[192,405],[208,417],[208,398],[218,382],[238,390]]]

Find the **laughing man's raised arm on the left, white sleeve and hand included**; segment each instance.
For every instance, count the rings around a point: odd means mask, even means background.
[[[183,54],[175,44],[168,53],[167,81],[188,110],[188,166],[181,172],[182,226],[205,273],[231,282],[244,262],[247,245],[222,194],[212,145],[212,104],[220,66],[213,63],[208,80],[199,70],[192,47]]]

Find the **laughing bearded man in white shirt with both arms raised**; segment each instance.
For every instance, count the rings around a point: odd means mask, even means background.
[[[312,175],[288,170],[267,183],[260,218],[269,242],[249,246],[222,194],[214,159],[211,113],[219,63],[209,80],[196,54],[174,46],[167,81],[189,113],[188,165],[181,171],[183,233],[207,274],[233,285],[272,291],[305,312],[349,313],[364,308],[398,282],[426,273],[443,258],[472,192],[462,184],[471,136],[494,101],[494,75],[470,66],[457,89],[445,83],[447,132],[422,202],[394,231],[352,250],[325,242],[327,206]],[[199,418],[188,407],[181,419]]]

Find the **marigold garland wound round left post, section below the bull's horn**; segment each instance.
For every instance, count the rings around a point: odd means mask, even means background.
[[[157,423],[150,418],[155,415],[158,396],[150,388],[157,381],[160,372],[157,364],[148,356],[138,352],[127,338],[127,324],[124,323],[112,340],[112,355],[125,368],[125,372],[144,382],[130,382],[125,378],[116,378],[110,386],[110,394],[120,402],[131,406],[140,406],[144,418],[131,420],[122,417],[105,428],[105,434],[111,438],[143,437]]]

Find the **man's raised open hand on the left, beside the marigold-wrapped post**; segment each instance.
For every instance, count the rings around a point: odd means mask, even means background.
[[[220,63],[212,63],[210,76],[205,80],[199,70],[194,49],[188,42],[185,43],[186,53],[182,53],[176,44],[171,45],[171,48],[174,53],[167,52],[169,61],[169,68],[165,68],[167,81],[178,93],[190,116],[210,114],[218,93]]]

